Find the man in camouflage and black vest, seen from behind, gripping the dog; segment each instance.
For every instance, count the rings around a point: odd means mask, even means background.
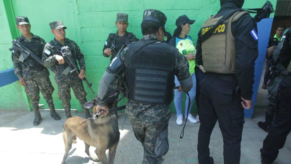
[[[143,37],[130,43],[104,73],[98,91],[98,105],[107,115],[106,98],[119,90],[124,76],[126,113],[134,135],[144,149],[143,163],[162,163],[168,151],[168,121],[173,98],[174,75],[183,91],[193,85],[187,60],[178,49],[163,43],[166,15],[159,10],[147,9],[143,13]]]

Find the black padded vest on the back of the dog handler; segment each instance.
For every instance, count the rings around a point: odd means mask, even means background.
[[[124,59],[125,95],[130,100],[162,105],[173,99],[178,50],[157,41],[141,40],[128,45],[129,53]]]

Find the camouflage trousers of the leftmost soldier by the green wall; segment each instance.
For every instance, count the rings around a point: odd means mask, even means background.
[[[49,76],[41,77],[28,77],[25,78],[25,92],[30,98],[30,102],[34,110],[39,109],[39,91],[41,91],[42,96],[45,98],[49,107],[54,107],[52,94],[54,92],[54,87],[49,79]]]

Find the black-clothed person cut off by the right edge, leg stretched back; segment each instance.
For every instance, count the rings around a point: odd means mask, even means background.
[[[272,127],[260,149],[262,164],[271,164],[283,148],[286,137],[291,130],[291,30],[286,34],[283,47],[279,54],[279,62],[288,71],[288,76],[279,87],[279,100]]]

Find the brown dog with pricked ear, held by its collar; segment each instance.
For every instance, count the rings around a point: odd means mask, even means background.
[[[113,101],[107,100],[107,102]],[[97,113],[96,105],[96,98],[84,104],[85,108],[90,109],[93,107],[93,118]],[[112,105],[108,105],[108,107],[111,108]],[[110,113],[107,116],[96,115],[95,119],[83,119],[81,117],[68,118],[63,126],[65,155],[62,164],[65,164],[68,153],[72,148],[72,143],[76,143],[77,137],[84,141],[85,152],[90,158],[92,157],[89,153],[89,147],[96,147],[95,153],[98,158],[92,158],[93,161],[101,161],[102,164],[113,164],[117,144],[120,138],[117,112]],[[109,149],[109,161],[105,154],[107,149]]]

